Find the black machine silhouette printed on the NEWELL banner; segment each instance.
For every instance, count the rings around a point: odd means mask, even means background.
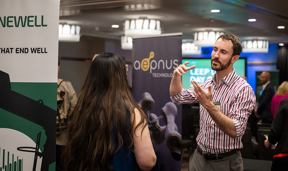
[[[42,155],[41,171],[48,171],[49,165],[55,162],[56,111],[45,106],[42,100],[35,101],[12,91],[9,74],[2,71],[0,71],[0,108],[40,125],[45,130],[47,139],[43,145],[43,152],[35,151],[35,156]],[[40,134],[37,140],[40,142]],[[37,144],[38,142],[36,142],[36,148],[39,149],[39,144]],[[35,150],[36,148],[33,147]]]

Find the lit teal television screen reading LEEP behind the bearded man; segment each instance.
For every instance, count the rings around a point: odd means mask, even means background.
[[[196,65],[196,67],[186,74],[182,75],[182,85],[184,89],[193,87],[192,80],[197,81],[198,84],[212,78],[215,71],[211,69],[211,58],[183,58],[182,63],[188,61],[187,67]],[[246,76],[246,58],[239,58],[233,64],[238,76]]]

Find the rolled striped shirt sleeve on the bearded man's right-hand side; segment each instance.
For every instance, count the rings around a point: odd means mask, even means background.
[[[229,117],[233,120],[236,128],[236,136],[242,136],[245,132],[248,117],[256,104],[256,97],[250,86],[239,91],[234,103],[229,110]]]

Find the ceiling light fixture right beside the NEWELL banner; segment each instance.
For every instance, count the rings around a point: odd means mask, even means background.
[[[79,42],[80,26],[59,24],[59,42]]]

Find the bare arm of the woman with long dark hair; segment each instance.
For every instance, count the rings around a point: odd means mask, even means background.
[[[138,109],[135,108],[135,125],[140,122],[141,115]],[[152,141],[148,126],[140,125],[133,134],[133,146],[135,150],[135,158],[141,170],[151,170],[156,164],[156,155],[153,149]],[[142,134],[141,134],[142,132]]]

